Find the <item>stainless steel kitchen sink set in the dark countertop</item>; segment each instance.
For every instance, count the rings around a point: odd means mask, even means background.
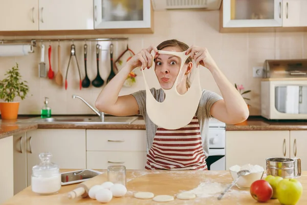
[[[18,120],[17,123],[37,123],[37,124],[131,124],[137,116],[104,116],[102,121],[96,117],[80,116],[55,116],[50,118],[33,117],[24,120]]]

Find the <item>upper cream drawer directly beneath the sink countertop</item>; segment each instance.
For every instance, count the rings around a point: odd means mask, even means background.
[[[86,130],[87,151],[146,151],[146,130]]]

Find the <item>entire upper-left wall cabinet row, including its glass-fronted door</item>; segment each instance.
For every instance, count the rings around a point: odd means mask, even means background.
[[[0,36],[153,33],[150,0],[0,0],[0,5]]]

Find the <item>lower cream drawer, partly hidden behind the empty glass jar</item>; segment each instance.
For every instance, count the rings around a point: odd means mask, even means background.
[[[87,151],[87,169],[107,169],[112,165],[124,165],[129,170],[145,169],[146,152],[144,151]]]

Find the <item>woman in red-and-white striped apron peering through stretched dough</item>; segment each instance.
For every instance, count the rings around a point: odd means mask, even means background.
[[[189,125],[178,130],[166,130],[153,124],[146,114],[146,92],[141,90],[129,95],[118,96],[127,75],[135,68],[149,69],[152,65],[151,51],[154,51],[155,73],[163,89],[170,89],[180,70],[181,58],[158,54],[158,50],[183,52],[190,57],[183,69],[184,80],[177,85],[180,94],[189,89],[188,76],[193,68],[192,59],[196,65],[209,69],[220,89],[223,98],[214,92],[203,90],[198,111]],[[162,89],[150,89],[157,101],[164,100]],[[102,112],[117,115],[143,115],[146,123],[147,162],[145,169],[166,170],[207,170],[208,157],[208,120],[214,117],[227,124],[236,124],[247,119],[249,110],[243,97],[227,80],[210,56],[206,48],[188,47],[176,39],[166,40],[157,48],[150,46],[141,50],[124,68],[105,86],[99,94],[95,106]]]

